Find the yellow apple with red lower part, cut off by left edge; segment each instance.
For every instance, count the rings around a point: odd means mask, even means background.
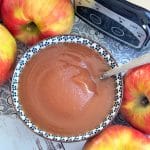
[[[16,49],[14,37],[0,24],[0,85],[10,76],[16,58]]]

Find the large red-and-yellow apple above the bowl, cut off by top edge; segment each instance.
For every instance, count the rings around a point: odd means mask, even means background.
[[[70,0],[4,0],[1,13],[14,37],[30,45],[70,33],[74,22]]]

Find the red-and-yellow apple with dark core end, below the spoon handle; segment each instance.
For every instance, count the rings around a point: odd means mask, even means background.
[[[124,76],[121,112],[131,125],[150,134],[150,63],[131,69]]]

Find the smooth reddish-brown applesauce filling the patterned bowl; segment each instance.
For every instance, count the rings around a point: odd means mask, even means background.
[[[109,113],[115,97],[104,59],[81,44],[47,47],[26,64],[19,79],[19,99],[40,129],[75,136],[95,128]]]

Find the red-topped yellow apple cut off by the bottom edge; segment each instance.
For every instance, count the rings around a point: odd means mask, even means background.
[[[134,128],[112,125],[88,140],[83,150],[150,150],[150,139]]]

